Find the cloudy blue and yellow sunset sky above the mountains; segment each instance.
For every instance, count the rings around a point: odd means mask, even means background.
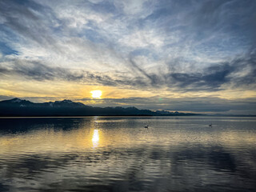
[[[254,0],[1,0],[0,100],[256,114],[255,10]]]

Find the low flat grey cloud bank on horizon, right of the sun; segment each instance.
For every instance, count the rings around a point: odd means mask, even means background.
[[[78,101],[88,102],[92,98],[78,99]],[[150,110],[171,110],[171,111],[194,111],[198,113],[237,113],[255,114],[256,98],[246,99],[224,99],[214,97],[200,98],[102,98],[94,100],[98,106],[136,106],[140,109]],[[94,104],[95,105],[95,104]]]

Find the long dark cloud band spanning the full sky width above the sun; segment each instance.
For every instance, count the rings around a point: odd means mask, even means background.
[[[59,66],[45,65],[40,61],[11,60],[8,67],[2,65],[0,74],[16,74],[37,81],[66,80],[99,84],[103,86],[129,86],[134,89],[169,87],[187,91],[216,91],[223,90],[224,86],[255,88],[256,56],[252,52],[230,62],[218,63],[203,69],[198,73],[178,73],[169,70],[167,73],[155,71],[148,73],[138,66],[130,57],[129,65],[134,69],[133,76],[127,74],[104,74],[86,70],[71,70]],[[5,64],[6,64],[5,63]]]

